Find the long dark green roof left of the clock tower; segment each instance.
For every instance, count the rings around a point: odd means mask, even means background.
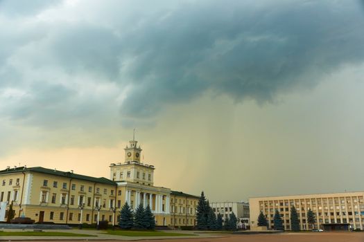
[[[80,175],[80,174],[74,174],[70,171],[58,171],[55,169],[47,169],[44,167],[16,167],[16,168],[9,168],[9,169],[4,169],[2,171],[0,171],[0,175],[1,174],[12,174],[12,173],[18,173],[18,172],[26,172],[26,171],[33,171],[33,172],[38,172],[38,173],[42,173],[42,174],[49,174],[49,175],[53,175],[53,176],[63,176],[63,177],[67,177],[67,178],[73,178],[73,179],[78,179],[78,180],[87,180],[93,183],[103,183],[103,184],[108,184],[108,185],[116,185],[116,183],[114,183],[114,181],[109,180],[105,177],[100,177],[100,178],[96,178],[96,177],[92,177],[92,176],[84,176],[84,175]]]

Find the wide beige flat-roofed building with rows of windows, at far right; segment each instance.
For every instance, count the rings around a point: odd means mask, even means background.
[[[363,230],[364,192],[344,192],[334,194],[309,194],[297,196],[268,196],[250,198],[250,224],[257,227],[260,212],[266,216],[269,227],[274,226],[275,210],[281,214],[284,229],[291,230],[291,207],[295,206],[300,219],[301,230],[313,227],[307,221],[307,211],[315,214],[315,228],[342,230],[352,228]]]

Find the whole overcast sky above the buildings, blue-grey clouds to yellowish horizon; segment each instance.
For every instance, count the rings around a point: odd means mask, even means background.
[[[210,201],[363,190],[364,1],[0,0],[0,169]]]

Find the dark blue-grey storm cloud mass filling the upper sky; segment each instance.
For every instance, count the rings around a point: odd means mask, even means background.
[[[7,16],[14,14],[15,3],[0,4],[6,6],[0,28],[9,33],[1,42],[0,86],[28,93],[6,113],[24,122],[32,115],[32,125],[49,120],[36,118],[42,113],[53,113],[62,122],[69,102],[75,117],[83,113],[77,113],[77,106],[112,106],[124,124],[153,118],[164,106],[188,102],[205,91],[236,101],[269,102],[277,93],[314,86],[322,75],[364,59],[358,1],[40,4],[30,12],[22,8],[28,14],[14,22],[27,26],[25,33],[9,28]],[[42,10],[52,8],[51,17],[42,17]],[[39,20],[32,22],[35,15]],[[114,83],[119,95],[96,98],[92,91],[88,100],[94,102],[79,98],[105,82]],[[28,102],[29,96],[36,98]],[[46,108],[38,105],[42,102]]]

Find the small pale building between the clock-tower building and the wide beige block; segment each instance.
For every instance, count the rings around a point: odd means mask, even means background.
[[[223,221],[227,217],[234,212],[236,218],[238,218],[239,228],[246,228],[249,223],[250,219],[250,210],[249,210],[249,203],[235,203],[235,202],[212,202],[210,203],[210,206],[216,216],[218,214],[221,214],[223,216]]]

